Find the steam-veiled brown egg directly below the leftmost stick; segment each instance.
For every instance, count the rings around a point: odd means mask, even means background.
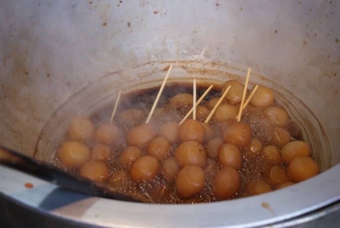
[[[99,143],[115,142],[121,135],[119,127],[115,123],[104,123],[95,130],[95,139]]]

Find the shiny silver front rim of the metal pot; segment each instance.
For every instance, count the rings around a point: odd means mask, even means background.
[[[340,165],[291,187],[243,199],[162,205],[90,197],[0,166],[0,193],[40,213],[102,227],[257,227],[340,200]],[[32,183],[33,188],[25,187]],[[307,198],[308,197],[308,198]]]

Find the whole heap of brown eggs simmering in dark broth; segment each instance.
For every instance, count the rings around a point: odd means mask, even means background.
[[[218,96],[197,106],[196,119],[179,124],[186,113],[178,110],[189,111],[193,105],[189,93],[168,98],[164,107],[155,110],[151,123],[144,123],[147,110],[134,108],[120,112],[115,122],[97,127],[90,119],[75,116],[56,157],[66,169],[116,187],[127,180],[138,185],[161,176],[168,184],[163,191],[172,190],[170,195],[180,199],[176,202],[199,202],[207,191],[212,196],[208,201],[261,194],[319,173],[307,143],[291,136],[287,128],[291,119],[275,105],[271,89],[259,86],[244,118],[237,121],[244,85],[229,80],[218,94],[229,85],[229,93],[208,123],[204,118]],[[259,133],[258,121],[247,110],[260,113],[270,129]],[[267,171],[248,177],[243,170],[254,158],[265,161]]]

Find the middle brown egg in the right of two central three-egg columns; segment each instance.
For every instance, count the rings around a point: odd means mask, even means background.
[[[218,161],[223,166],[239,169],[242,164],[242,155],[239,148],[233,143],[225,143],[218,150]]]

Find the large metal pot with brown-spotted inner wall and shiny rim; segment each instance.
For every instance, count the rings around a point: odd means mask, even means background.
[[[90,114],[112,101],[118,89],[160,84],[169,63],[175,65],[171,80],[244,80],[244,69],[251,67],[252,83],[272,87],[294,118],[308,123],[302,128],[311,135],[308,142],[317,148],[313,156],[323,171],[244,199],[151,205],[87,197],[0,166],[0,214],[6,225],[287,227],[316,224],[323,216],[328,219],[323,225],[337,222],[337,1],[0,4],[1,145],[49,160],[70,116]],[[34,187],[25,187],[27,182]]]

